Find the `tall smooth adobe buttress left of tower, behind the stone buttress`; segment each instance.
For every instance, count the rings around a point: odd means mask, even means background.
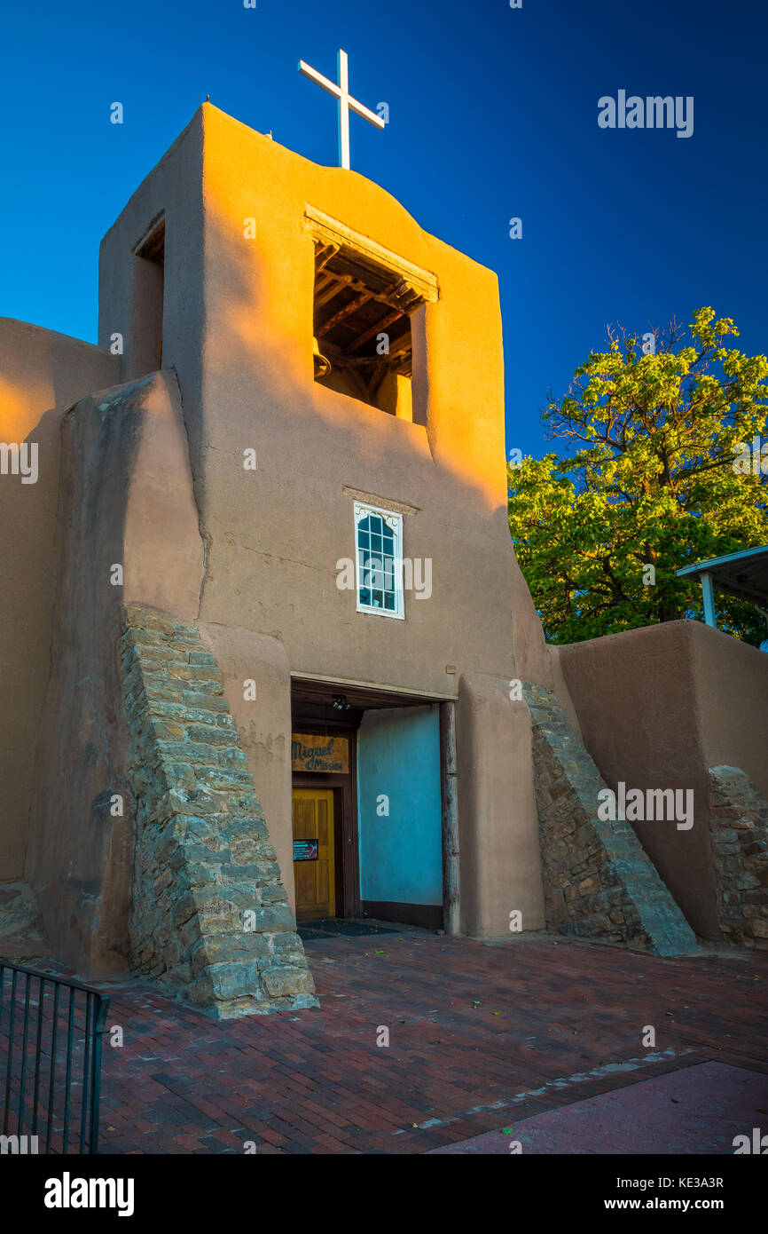
[[[25,876],[57,959],[100,977],[128,961],[123,602],[190,621],[200,592],[202,543],[173,375],[113,387],[64,416],[59,528]],[[112,584],[116,564],[123,586]]]

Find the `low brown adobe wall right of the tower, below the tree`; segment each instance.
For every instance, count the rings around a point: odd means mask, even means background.
[[[688,921],[719,938],[709,769],[740,768],[768,790],[768,656],[695,621],[558,649],[584,744],[611,789],[693,789],[694,826],[635,829]]]

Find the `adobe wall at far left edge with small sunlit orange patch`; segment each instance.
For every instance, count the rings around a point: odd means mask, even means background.
[[[0,318],[0,441],[37,443],[38,478],[0,475],[0,881],[21,879],[37,732],[51,670],[63,411],[118,380],[115,357]]]

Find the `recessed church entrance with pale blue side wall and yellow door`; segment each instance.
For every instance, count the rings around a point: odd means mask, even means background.
[[[454,782],[439,701],[295,677],[291,702],[297,919],[444,928],[443,816]],[[319,838],[322,810],[307,802],[321,800],[332,819],[324,871],[319,853],[301,845]]]

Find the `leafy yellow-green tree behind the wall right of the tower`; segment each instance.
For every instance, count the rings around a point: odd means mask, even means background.
[[[550,396],[563,454],[509,466],[509,527],[551,642],[701,616],[699,582],[676,570],[768,543],[768,474],[742,453],[764,438],[768,360],[724,346],[737,334],[713,308],[645,343],[609,329],[608,350]],[[721,628],[766,638],[756,608],[715,598]]]

